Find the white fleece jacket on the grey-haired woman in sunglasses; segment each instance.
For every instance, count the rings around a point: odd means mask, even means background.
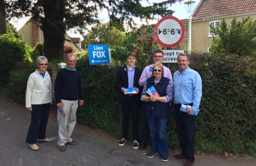
[[[47,71],[44,78],[35,70],[31,73],[27,81],[26,107],[31,104],[52,104],[52,80]]]

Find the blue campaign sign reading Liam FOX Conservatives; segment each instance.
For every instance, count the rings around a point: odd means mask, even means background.
[[[106,44],[88,45],[90,65],[111,63],[110,48]]]

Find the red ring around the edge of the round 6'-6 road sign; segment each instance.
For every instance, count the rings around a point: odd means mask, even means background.
[[[160,25],[164,20],[167,20],[167,19],[175,20],[176,22],[179,23],[180,28],[181,28],[181,35],[180,35],[180,38],[179,38],[179,40],[178,40],[177,42],[175,42],[175,43],[173,43],[173,44],[165,44],[165,43],[163,43],[163,42],[158,38],[158,27],[159,27],[159,25]],[[183,26],[182,22],[181,22],[178,18],[176,18],[176,17],[174,17],[174,16],[165,16],[165,17],[161,18],[161,19],[156,23],[154,32],[155,32],[155,39],[158,41],[159,44],[161,44],[161,45],[163,45],[163,46],[165,46],[165,47],[174,47],[174,46],[178,45],[178,44],[182,41],[182,39],[183,39],[183,37],[184,37],[184,26]]]

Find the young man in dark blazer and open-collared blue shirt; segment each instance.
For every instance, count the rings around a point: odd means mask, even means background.
[[[118,69],[115,87],[119,93],[118,101],[121,102],[122,109],[122,131],[123,138],[119,142],[120,146],[123,146],[128,140],[128,127],[129,117],[132,116],[132,130],[133,130],[133,148],[138,149],[138,137],[139,137],[139,92],[142,87],[139,86],[138,81],[142,73],[142,69],[135,67],[136,53],[129,52],[126,54],[127,65]],[[136,93],[126,93],[126,88],[137,88]]]

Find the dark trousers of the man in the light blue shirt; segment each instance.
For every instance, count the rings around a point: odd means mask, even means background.
[[[196,116],[180,111],[180,104],[174,105],[173,115],[180,141],[181,154],[187,156],[187,160],[194,161]]]

